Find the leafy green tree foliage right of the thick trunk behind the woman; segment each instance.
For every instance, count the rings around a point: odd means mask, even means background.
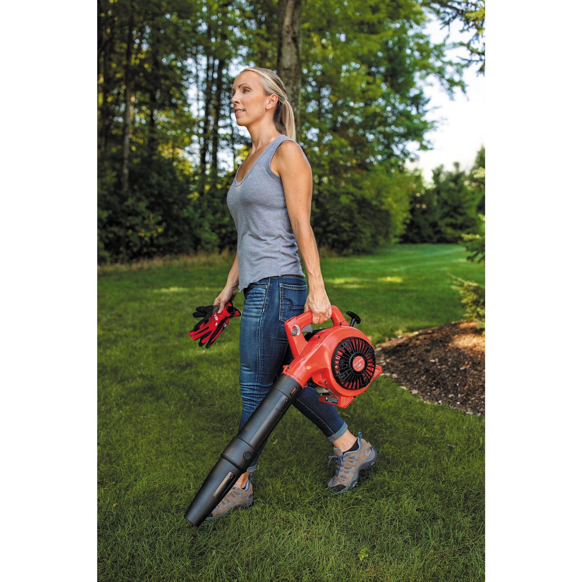
[[[422,81],[463,87],[461,68],[423,33],[416,2],[306,8],[303,143],[314,173],[314,232],[346,253],[398,239],[417,176],[411,142],[432,125]]]

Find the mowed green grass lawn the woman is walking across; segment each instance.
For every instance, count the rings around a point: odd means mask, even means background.
[[[447,273],[484,282],[465,257],[399,245],[321,269],[331,303],[359,314],[376,343],[459,320]],[[484,418],[425,404],[387,377],[340,411],[379,452],[353,491],[328,493],[331,445],[292,408],[258,463],[254,506],[200,528],[183,519],[239,423],[240,318],[208,350],[188,336],[231,265],[99,278],[100,580],[483,580]]]

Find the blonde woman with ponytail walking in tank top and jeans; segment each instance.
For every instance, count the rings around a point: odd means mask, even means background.
[[[283,323],[311,310],[313,324],[321,324],[331,317],[331,304],[310,225],[311,167],[294,141],[293,109],[283,81],[269,69],[244,69],[235,79],[230,101],[237,125],[249,130],[253,147],[226,198],[236,224],[237,254],[214,304],[220,304],[221,313],[236,295],[237,286],[244,293],[239,339],[240,430],[281,371],[289,349]],[[315,388],[307,386],[294,406],[333,443],[334,454],[329,458],[336,459],[336,474],[328,487],[342,493],[354,487],[360,471],[370,467],[378,453],[361,433],[354,437],[337,409],[320,402],[318,396]],[[261,450],[207,519],[253,503],[251,473]]]

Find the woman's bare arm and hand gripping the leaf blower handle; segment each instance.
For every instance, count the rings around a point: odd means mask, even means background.
[[[314,324],[331,317],[331,303],[321,276],[320,256],[311,228],[311,195],[313,176],[305,154],[294,141],[283,141],[273,157],[273,166],[281,176],[291,228],[305,263],[309,293],[305,310],[313,313]]]

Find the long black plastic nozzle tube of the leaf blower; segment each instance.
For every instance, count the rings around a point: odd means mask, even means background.
[[[212,513],[221,499],[253,461],[257,450],[276,427],[303,387],[297,381],[281,374],[267,396],[251,414],[239,434],[228,443],[218,463],[198,489],[184,517],[195,526]]]

